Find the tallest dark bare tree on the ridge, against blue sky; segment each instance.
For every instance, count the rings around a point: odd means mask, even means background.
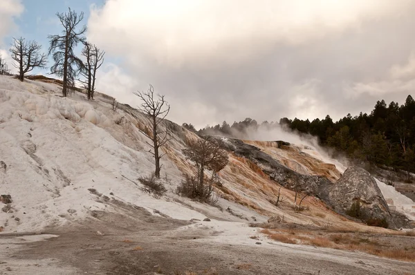
[[[75,87],[75,77],[80,73],[82,61],[75,56],[73,50],[79,42],[84,41],[86,26],[77,30],[78,25],[84,19],[84,12],[78,16],[71,8],[66,13],[57,13],[64,30],[62,35],[49,35],[50,42],[48,55],[53,53],[55,64],[50,67],[50,73],[63,78],[62,95],[68,95],[68,88]]]

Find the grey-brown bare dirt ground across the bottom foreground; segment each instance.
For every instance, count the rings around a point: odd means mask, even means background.
[[[100,212],[53,235],[0,236],[0,274],[415,274],[414,263],[362,253],[264,241],[230,245],[211,238],[214,232],[178,236],[171,232],[189,222],[142,209],[135,215]]]

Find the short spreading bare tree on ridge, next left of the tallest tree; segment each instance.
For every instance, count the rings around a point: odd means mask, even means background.
[[[13,66],[19,70],[19,80],[23,82],[24,75],[34,68],[46,68],[46,55],[40,53],[41,45],[36,41],[25,41],[23,37],[15,39],[13,37],[12,59],[16,61]]]

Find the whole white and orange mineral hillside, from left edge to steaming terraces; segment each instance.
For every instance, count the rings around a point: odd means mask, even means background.
[[[284,171],[281,175],[295,173],[304,181],[322,179],[326,184],[337,182],[347,169],[323,152],[301,144],[225,138],[230,162],[219,173],[223,185],[215,187],[219,196],[216,205],[178,196],[176,187],[183,174],[193,171],[182,149],[199,137],[168,120],[162,127],[169,129],[171,140],[163,148],[166,155],[161,160],[167,194],[154,196],[138,180],[154,169],[144,134],[149,128],[146,117],[123,104],[113,111],[111,99],[102,94],[88,101],[82,93],[60,97],[59,92],[55,83],[19,82],[0,76],[0,193],[12,200],[0,205],[3,234],[43,231],[64,236],[63,229],[87,228],[94,238],[96,231],[124,238],[141,228],[175,240],[206,236],[200,242],[216,245],[257,247],[261,240],[263,247],[273,249],[278,242],[268,242],[261,229],[250,227],[250,223],[259,226],[274,217],[313,230],[390,232],[338,214],[316,196],[304,199],[306,210],[294,211],[295,192],[270,175],[275,170],[270,171],[269,162],[273,162],[273,169],[278,166]],[[415,220],[412,200],[393,187],[377,184],[389,206]],[[273,202],[279,190],[285,200],[276,206]],[[299,196],[306,192],[304,189]],[[205,218],[210,221],[203,222]],[[189,222],[191,219],[197,220]],[[295,245],[288,247],[296,249]],[[339,257],[344,260],[348,255]],[[405,268],[410,270],[411,265]]]

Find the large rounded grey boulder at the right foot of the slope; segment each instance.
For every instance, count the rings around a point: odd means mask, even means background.
[[[389,227],[394,227],[387,202],[365,169],[349,167],[344,171],[342,177],[329,187],[329,201],[337,212],[365,222],[385,219]]]

